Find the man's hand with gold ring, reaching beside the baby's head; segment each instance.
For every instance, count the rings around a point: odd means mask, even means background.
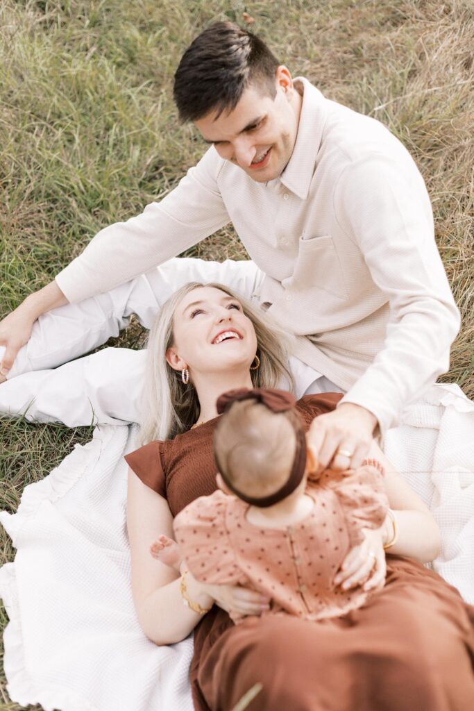
[[[356,469],[362,464],[372,444],[377,417],[352,402],[343,402],[337,410],[319,415],[311,422],[306,442],[316,459],[316,474],[331,469]]]

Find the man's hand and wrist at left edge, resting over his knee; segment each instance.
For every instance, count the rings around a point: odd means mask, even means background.
[[[0,383],[6,380],[6,374],[11,370],[20,348],[30,340],[38,316],[63,304],[68,304],[68,299],[53,281],[39,292],[27,296],[11,314],[0,321],[0,346],[5,346],[4,357],[0,362]]]

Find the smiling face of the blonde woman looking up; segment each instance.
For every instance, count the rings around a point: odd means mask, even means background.
[[[242,304],[215,287],[196,287],[176,307],[173,346],[166,360],[175,370],[189,369],[190,378],[249,369],[257,336]]]

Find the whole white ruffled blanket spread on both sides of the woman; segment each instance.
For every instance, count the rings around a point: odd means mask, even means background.
[[[0,411],[11,412],[1,397],[0,388]],[[21,705],[192,709],[192,640],[156,647],[134,614],[122,459],[133,434],[134,427],[100,425],[92,442],[26,487],[16,514],[0,514],[17,550],[0,570],[0,595],[10,620],[7,689]],[[441,526],[433,567],[474,603],[474,402],[456,385],[435,385],[383,446]]]

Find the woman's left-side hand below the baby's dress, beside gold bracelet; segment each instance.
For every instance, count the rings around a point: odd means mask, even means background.
[[[270,599],[255,590],[239,585],[206,585],[193,577],[189,572],[187,575],[187,586],[189,597],[200,602],[201,596],[213,599],[215,604],[222,607],[226,612],[238,612],[241,615],[259,615],[262,611],[270,609]],[[202,598],[201,598],[202,599]],[[203,605],[209,607],[205,602]]]

